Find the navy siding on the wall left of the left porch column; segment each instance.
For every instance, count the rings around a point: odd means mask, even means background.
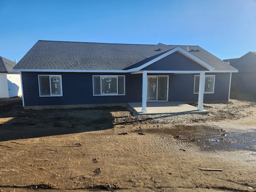
[[[40,73],[41,75],[62,75],[61,97],[39,97],[38,73],[22,72],[25,106],[107,104],[142,101],[141,74],[103,74],[103,73]],[[92,75],[125,75],[126,95],[93,96]]]

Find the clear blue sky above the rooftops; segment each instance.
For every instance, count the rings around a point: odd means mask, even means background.
[[[38,40],[256,52],[256,0],[0,0],[0,24],[0,56],[17,61]]]

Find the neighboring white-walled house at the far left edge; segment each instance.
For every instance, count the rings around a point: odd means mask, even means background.
[[[0,57],[0,98],[22,95],[20,72],[14,72],[14,66],[15,62]]]

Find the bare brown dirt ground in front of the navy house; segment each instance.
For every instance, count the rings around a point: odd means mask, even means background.
[[[122,107],[24,110],[21,98],[0,100],[0,191],[255,192],[255,104],[132,116]]]

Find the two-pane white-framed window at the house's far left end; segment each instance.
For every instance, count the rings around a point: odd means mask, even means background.
[[[39,96],[62,96],[61,75],[38,75]]]

